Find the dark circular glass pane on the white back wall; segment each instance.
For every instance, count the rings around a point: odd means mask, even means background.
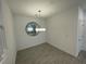
[[[25,30],[27,35],[37,36],[39,31],[36,31],[36,28],[39,28],[39,25],[36,22],[27,23]]]

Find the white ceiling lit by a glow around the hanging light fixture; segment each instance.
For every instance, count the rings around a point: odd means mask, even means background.
[[[9,4],[13,13],[35,15],[38,14],[38,10],[41,10],[41,16],[49,17],[82,1],[83,0],[9,0]]]

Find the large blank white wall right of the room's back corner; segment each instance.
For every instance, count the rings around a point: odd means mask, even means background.
[[[77,55],[78,8],[71,8],[56,14],[47,22],[48,42],[76,56]]]

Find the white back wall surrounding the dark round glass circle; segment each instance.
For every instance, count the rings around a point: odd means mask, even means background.
[[[17,50],[26,49],[36,44],[46,42],[46,33],[40,33],[38,36],[29,36],[25,31],[25,26],[29,22],[34,22],[34,17],[27,17],[19,14],[14,14],[14,28],[15,38],[17,43]],[[37,21],[41,27],[46,27],[45,20]]]

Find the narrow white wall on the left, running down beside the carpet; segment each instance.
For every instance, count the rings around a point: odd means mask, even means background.
[[[5,0],[1,0],[1,4],[2,4],[1,9],[2,21],[4,24],[7,49],[8,49],[7,55],[4,56],[2,64],[15,64],[16,49],[13,34],[13,18],[8,2]]]

